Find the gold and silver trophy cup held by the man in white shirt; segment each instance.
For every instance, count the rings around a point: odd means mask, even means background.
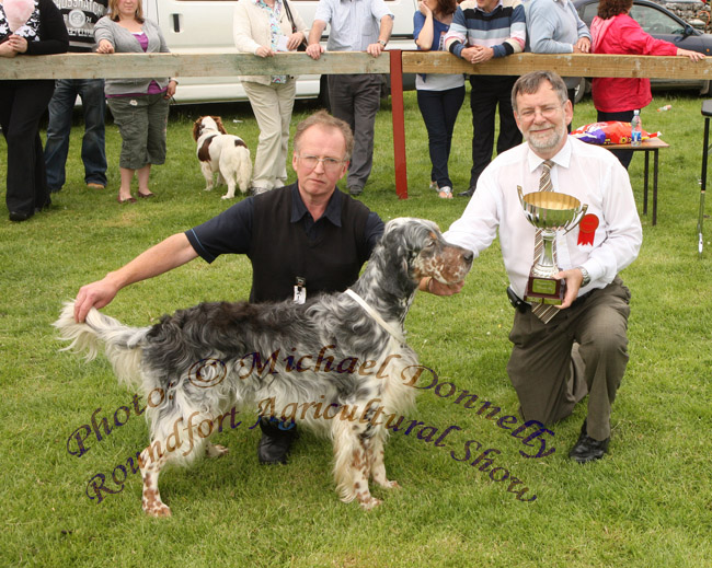
[[[561,305],[566,292],[566,282],[553,277],[560,271],[554,262],[554,239],[556,231],[564,230],[563,234],[566,234],[576,227],[586,215],[588,206],[566,194],[533,192],[524,195],[520,186],[517,186],[517,190],[527,221],[541,229],[543,242],[541,254],[535,259],[529,273],[525,300]]]

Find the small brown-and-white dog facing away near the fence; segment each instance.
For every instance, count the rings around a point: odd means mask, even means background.
[[[243,194],[250,187],[252,162],[250,150],[239,136],[227,132],[219,116],[202,116],[193,125],[193,139],[197,142],[200,171],[205,177],[205,190],[213,189],[213,177],[218,173],[218,183],[227,184],[228,193],[222,199],[234,197],[236,186]]]

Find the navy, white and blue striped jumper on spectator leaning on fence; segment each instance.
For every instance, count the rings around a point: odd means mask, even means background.
[[[476,0],[464,0],[455,12],[445,47],[462,57],[462,49],[480,45],[491,47],[494,57],[505,57],[521,53],[526,39],[521,0],[499,0],[492,12],[478,8]]]

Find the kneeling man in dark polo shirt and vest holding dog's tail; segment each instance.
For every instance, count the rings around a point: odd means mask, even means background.
[[[74,318],[108,304],[124,287],[182,266],[197,256],[246,254],[253,267],[251,302],[343,291],[358,278],[383,232],[377,213],[336,190],[354,139],[346,123],[321,111],[297,126],[297,183],[249,197],[209,221],[169,236],[77,294]],[[296,433],[263,419],[261,463],[285,463]]]

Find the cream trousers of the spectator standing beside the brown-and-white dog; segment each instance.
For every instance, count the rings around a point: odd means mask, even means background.
[[[282,187],[287,181],[289,123],[297,83],[294,78],[287,79],[286,83],[268,85],[243,81],[242,88],[260,127],[251,185],[264,189]]]

